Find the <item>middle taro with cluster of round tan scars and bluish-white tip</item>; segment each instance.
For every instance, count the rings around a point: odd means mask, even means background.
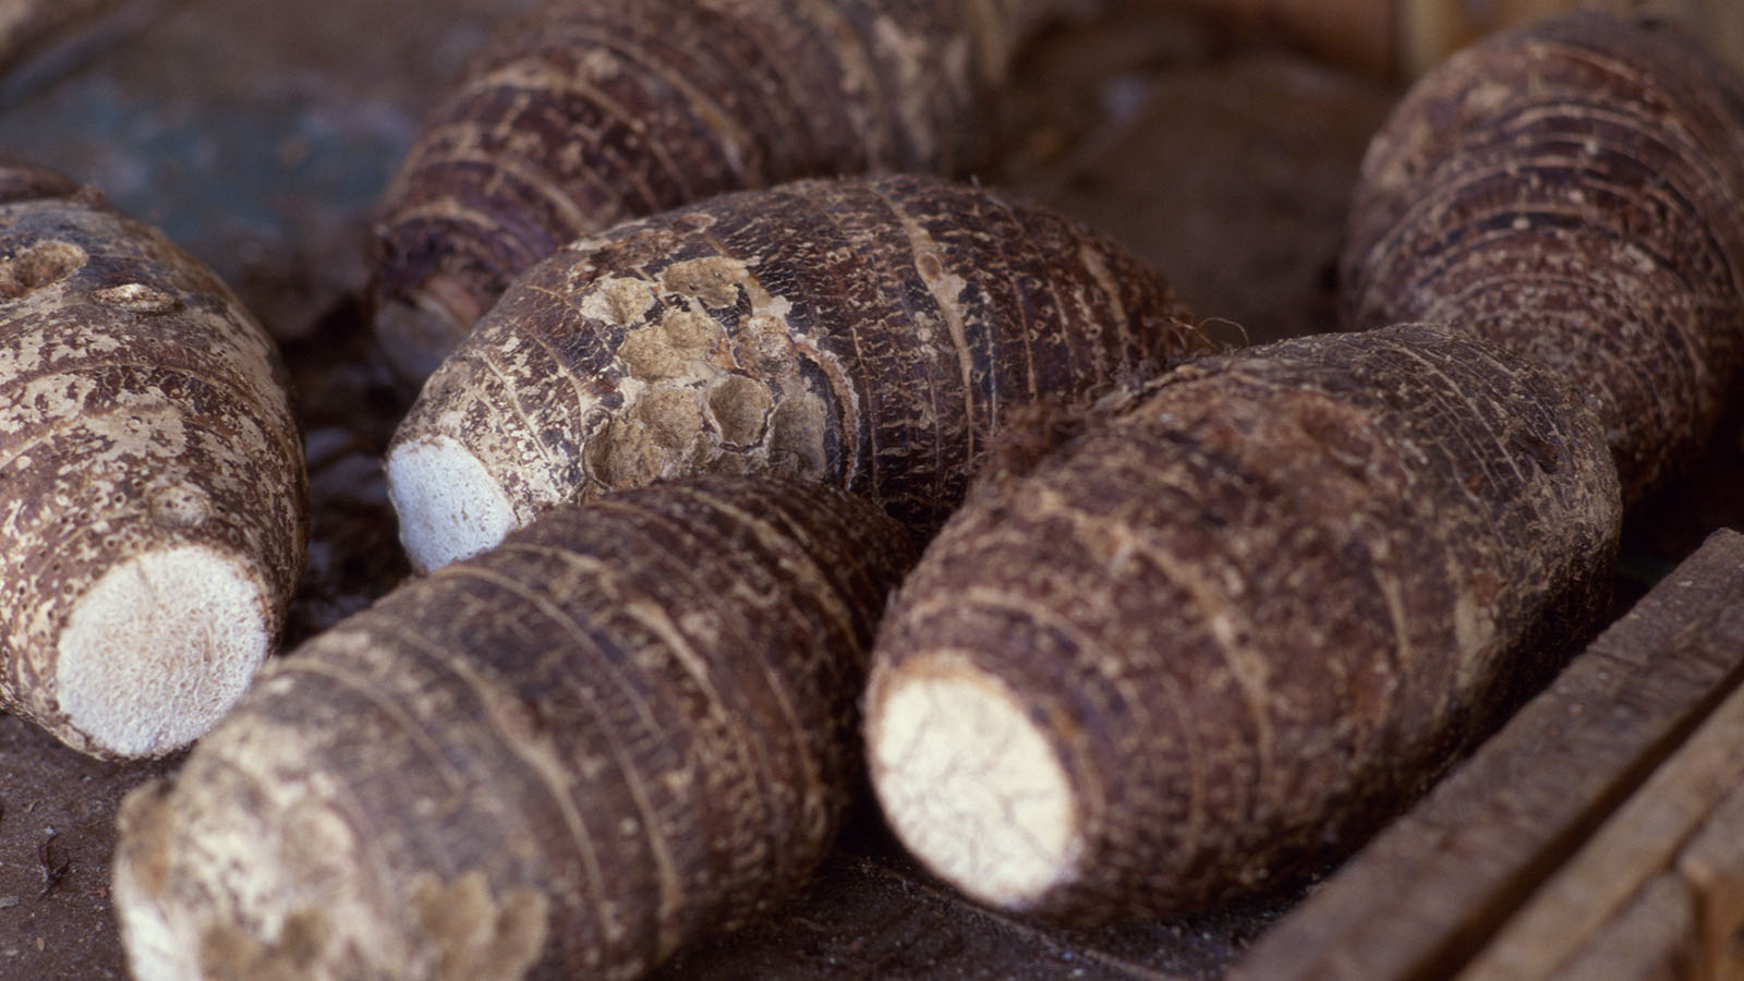
[[[1137,260],[980,189],[722,196],[521,278],[399,426],[389,494],[417,567],[698,471],[818,478],[924,536],[1010,408],[1083,405],[1198,344]]]

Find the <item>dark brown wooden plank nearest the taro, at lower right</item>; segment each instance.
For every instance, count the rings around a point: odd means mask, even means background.
[[[1739,686],[1730,607],[1744,607],[1744,536],[1721,531],[1230,978],[1454,976]]]

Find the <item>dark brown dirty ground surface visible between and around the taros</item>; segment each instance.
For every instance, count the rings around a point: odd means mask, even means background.
[[[375,197],[419,119],[527,0],[133,0],[0,66],[0,150],[103,189],[211,264],[281,340],[312,478],[286,649],[408,574],[380,452],[410,393],[363,323]],[[1331,330],[1345,202],[1395,91],[1162,0],[1109,0],[1024,56],[977,175],[1135,248],[1228,342]],[[1632,520],[1620,600],[1741,527],[1739,426]],[[0,716],[0,979],[126,978],[108,908],[122,796],[176,759],[113,765]],[[1299,894],[1299,890],[1298,890]],[[661,978],[1210,979],[1296,895],[1059,932],[928,880],[867,808],[771,922]]]

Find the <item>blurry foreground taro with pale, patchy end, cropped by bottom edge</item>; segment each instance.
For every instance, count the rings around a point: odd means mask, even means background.
[[[288,658],[122,812],[140,981],[635,978],[790,894],[858,784],[902,529],[816,484],[563,508]]]

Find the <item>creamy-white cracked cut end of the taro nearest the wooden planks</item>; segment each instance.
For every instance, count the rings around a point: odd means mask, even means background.
[[[968,895],[1022,908],[1076,875],[1071,777],[998,677],[905,663],[872,710],[867,752],[896,836]]]

